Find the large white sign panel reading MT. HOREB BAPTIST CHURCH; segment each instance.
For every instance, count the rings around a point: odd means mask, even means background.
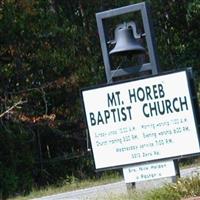
[[[200,152],[187,71],[82,90],[96,169]]]

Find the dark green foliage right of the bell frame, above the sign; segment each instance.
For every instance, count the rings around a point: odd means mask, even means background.
[[[199,1],[150,1],[162,70],[193,67],[198,73]]]

